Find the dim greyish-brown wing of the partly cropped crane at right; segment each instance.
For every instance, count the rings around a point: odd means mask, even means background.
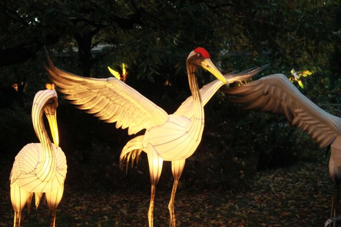
[[[328,146],[341,134],[341,119],[316,106],[283,74],[269,75],[225,92],[240,108],[285,115],[320,147]]]

